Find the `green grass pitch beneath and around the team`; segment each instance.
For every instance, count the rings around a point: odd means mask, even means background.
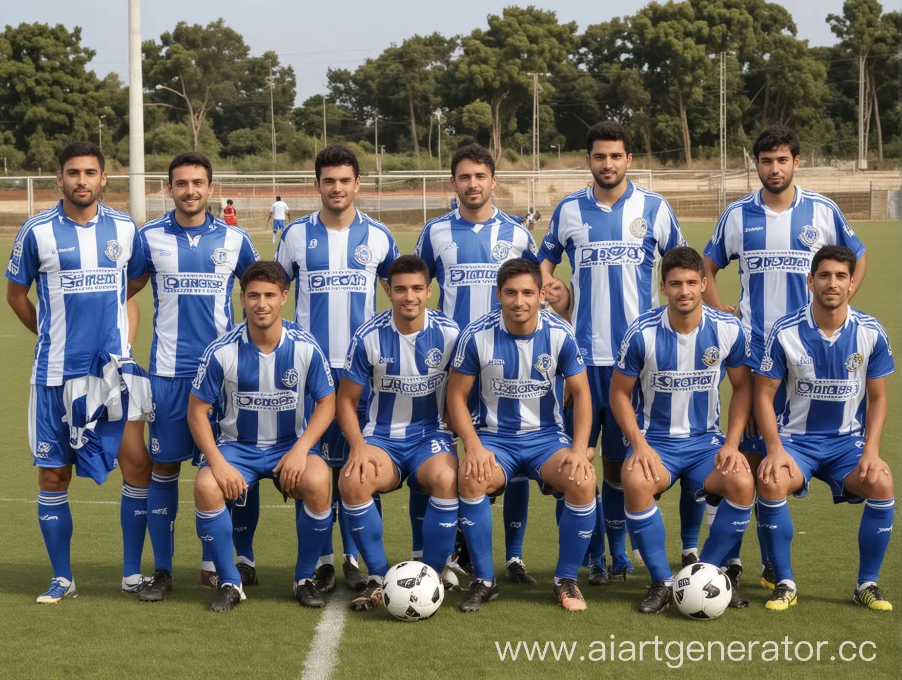
[[[868,247],[870,266],[867,281],[856,306],[877,316],[886,326],[890,339],[902,346],[899,333],[899,284],[902,267],[898,264],[900,232],[896,223],[870,222],[854,225]],[[704,247],[713,224],[684,225],[689,243]],[[398,234],[401,252],[413,250],[417,234]],[[537,235],[539,236],[539,235]],[[269,235],[258,238],[261,255],[271,257],[274,247]],[[0,239],[0,251],[8,253],[12,238]],[[563,267],[562,267],[563,269]],[[566,275],[566,271],[561,271]],[[736,265],[725,270],[719,284],[724,300],[738,298]],[[437,293],[437,291],[436,291]],[[291,299],[293,300],[293,293]],[[379,295],[380,308],[387,306]],[[150,349],[152,299],[150,288],[140,296],[143,312],[136,357],[146,364]],[[291,312],[286,305],[286,313]],[[51,569],[44,552],[35,517],[36,472],[32,468],[27,443],[25,412],[34,339],[25,331],[6,305],[0,306],[0,356],[5,363],[4,388],[0,393],[0,415],[5,436],[0,439],[0,612],[5,619],[0,634],[0,677],[77,678],[171,678],[171,677],[296,677],[301,676],[310,642],[322,616],[321,611],[301,610],[291,599],[291,579],[295,559],[294,513],[283,505],[275,489],[263,485],[260,526],[256,536],[256,560],[261,584],[248,590],[248,600],[227,616],[206,611],[213,594],[197,587],[199,546],[191,512],[191,480],[194,470],[183,468],[181,505],[176,528],[175,590],[165,602],[139,603],[135,596],[119,592],[121,536],[118,521],[119,476],[117,473],[101,487],[88,480],[75,480],[69,489],[73,502],[75,534],[72,541],[73,571],[79,597],[58,606],[40,607],[34,598],[47,586]],[[902,378],[888,379],[890,415],[883,435],[882,452],[897,474],[902,463],[899,455],[902,428],[897,401],[902,397]],[[728,388],[729,389],[729,388]],[[724,413],[726,409],[724,408]],[[599,470],[600,472],[600,470]],[[668,528],[668,553],[673,564],[679,557],[677,519],[678,491],[662,501]],[[384,497],[385,545],[392,563],[410,556],[408,492],[402,490]],[[747,574],[743,592],[750,598],[748,610],[729,610],[722,619],[696,622],[684,619],[676,609],[663,616],[643,617],[635,611],[648,584],[648,572],[637,570],[625,584],[590,588],[581,583],[589,603],[584,613],[566,613],[555,605],[551,579],[557,558],[557,534],[554,502],[543,498],[533,487],[530,499],[529,529],[524,547],[530,573],[538,578],[532,587],[509,586],[501,578],[502,594],[479,614],[463,615],[456,610],[459,593],[449,594],[434,619],[417,625],[396,622],[384,610],[368,615],[348,613],[345,628],[336,647],[336,678],[364,677],[567,677],[607,675],[623,678],[658,677],[677,674],[683,677],[818,677],[847,678],[866,674],[870,677],[897,677],[897,658],[902,652],[899,611],[888,615],[862,610],[851,604],[852,587],[858,564],[857,527],[861,506],[833,507],[823,484],[815,482],[810,498],[791,500],[796,526],[794,556],[799,603],[787,612],[764,610],[767,592],[755,577],[759,561],[754,531],[746,536],[742,553]],[[503,563],[501,504],[495,506],[495,565],[499,573]],[[706,530],[703,529],[703,539]],[[337,529],[335,545],[341,539]],[[883,567],[881,585],[902,607],[899,544],[890,546]],[[143,572],[152,573],[150,542],[145,545]],[[344,583],[332,597],[347,597]],[[780,643],[778,661],[756,659],[720,660],[713,647],[714,661],[692,662],[686,653],[682,668],[667,667],[665,647],[645,647],[644,660],[638,660],[639,643],[658,637],[668,641],[700,640],[705,650],[710,640],[727,645],[742,641]],[[784,640],[791,641],[790,657],[796,642],[808,641],[821,648],[821,660],[807,662],[784,660]],[[843,641],[856,645],[871,641],[865,655],[843,662],[839,647]],[[555,644],[576,643],[572,660],[555,661],[550,652],[544,661],[526,659],[521,651],[517,661],[502,662],[495,642],[504,647],[511,641],[546,641]],[[594,641],[603,642],[606,660]],[[610,644],[615,645],[611,658]],[[629,646],[636,645],[636,660],[629,660]],[[698,648],[698,647],[696,647]],[[760,649],[761,647],[757,647]],[[594,653],[590,654],[594,649]],[[677,656],[677,647],[669,647]],[[688,648],[686,648],[688,650]],[[846,657],[852,648],[844,647]],[[799,647],[801,657],[806,647]],[[706,652],[705,652],[706,655]],[[735,656],[735,655],[734,655]],[[831,661],[831,656],[834,660]],[[580,657],[584,657],[580,661]],[[670,662],[676,666],[678,660]],[[309,670],[309,668],[308,668]],[[311,675],[312,676],[312,675]],[[676,675],[675,675],[676,676]]]

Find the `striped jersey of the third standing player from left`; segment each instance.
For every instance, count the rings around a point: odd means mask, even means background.
[[[376,279],[388,278],[399,256],[389,228],[360,210],[341,231],[327,228],[319,210],[282,231],[276,262],[294,281],[294,320],[319,340],[333,368],[345,365],[351,336],[376,313]]]

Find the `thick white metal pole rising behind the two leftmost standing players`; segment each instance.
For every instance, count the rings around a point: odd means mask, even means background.
[[[128,0],[128,198],[138,225],[147,221],[144,196],[144,88],[141,75],[141,0]]]

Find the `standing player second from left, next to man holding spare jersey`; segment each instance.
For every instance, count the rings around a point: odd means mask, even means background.
[[[235,278],[260,259],[244,229],[207,212],[214,189],[207,156],[179,154],[170,163],[169,180],[167,190],[175,209],[141,228],[146,273],[129,282],[132,293],[152,282],[154,309],[150,365],[154,418],[149,426],[153,476],[147,495],[154,573],[152,583],[139,593],[142,601],[160,601],[172,588],[179,471],[182,461],[195,453],[188,425],[191,380],[207,345],[234,324]],[[244,583],[253,585],[257,580],[253,554],[243,553],[238,554],[238,569]]]

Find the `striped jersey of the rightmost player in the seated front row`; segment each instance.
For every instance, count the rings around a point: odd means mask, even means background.
[[[874,317],[850,307],[828,338],[807,304],[774,323],[759,369],[786,384],[786,401],[774,408],[780,434],[795,436],[863,433],[867,380],[896,366],[887,331]]]

